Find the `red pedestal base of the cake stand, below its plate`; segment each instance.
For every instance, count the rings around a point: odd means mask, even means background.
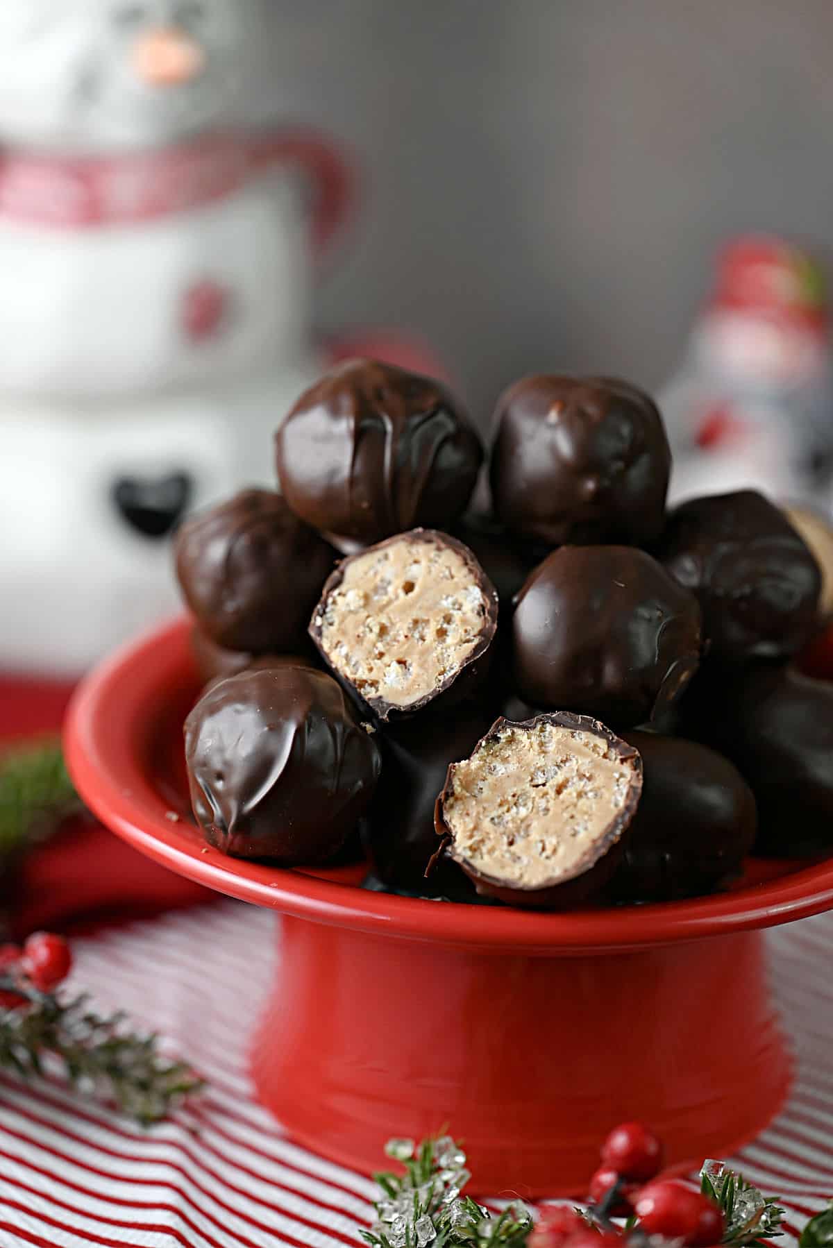
[[[618,1122],[647,1122],[689,1169],[757,1136],[789,1090],[757,931],[530,957],[278,922],[259,1097],[365,1173],[391,1136],[445,1126],[476,1192],[581,1198]]]

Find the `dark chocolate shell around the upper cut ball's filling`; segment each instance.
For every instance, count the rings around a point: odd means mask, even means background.
[[[332,670],[336,678],[350,690],[350,695],[362,710],[366,710],[372,718],[381,720],[386,724],[388,720],[400,720],[416,715],[417,711],[425,710],[427,706],[436,708],[436,703],[442,698],[446,708],[450,708],[456,701],[461,701],[463,698],[470,698],[478,688],[478,685],[485,680],[488,673],[492,658],[493,658],[493,643],[497,635],[497,614],[498,614],[498,598],[497,590],[490,582],[488,577],[478,564],[475,555],[471,553],[468,547],[465,547],[462,542],[452,538],[448,533],[438,533],[435,529],[412,529],[410,533],[398,533],[386,542],[380,542],[373,549],[383,549],[392,542],[400,542],[401,539],[407,539],[415,543],[426,543],[427,545],[438,547],[451,547],[457,552],[457,554],[468,565],[472,578],[480,585],[486,603],[483,614],[483,625],[481,629],[480,639],[477,644],[471,650],[468,658],[460,665],[460,668],[451,673],[451,675],[437,685],[430,694],[420,698],[417,701],[411,703],[410,706],[400,706],[387,701],[385,698],[365,698],[358,691],[358,689],[352,683],[347,673],[338,670],[326,655],[321,645],[321,633],[322,626],[320,623],[321,617],[325,614],[327,598],[341,585],[345,573],[350,567],[351,558],[358,558],[358,555],[352,555],[343,559],[336,570],[332,573],[330,579],[323,587],[323,593],[321,594],[321,602],[316,607],[312,619],[310,622],[310,636],[312,638],[315,645],[321,653],[321,658]],[[363,553],[363,552],[361,552]]]

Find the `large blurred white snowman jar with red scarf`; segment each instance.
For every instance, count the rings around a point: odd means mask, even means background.
[[[259,2],[0,4],[0,669],[75,674],[175,610],[172,529],[272,482],[320,371],[348,177],[235,124]]]

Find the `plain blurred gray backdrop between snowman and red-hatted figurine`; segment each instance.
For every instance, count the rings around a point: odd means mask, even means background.
[[[531,369],[674,368],[716,247],[833,235],[832,0],[269,0],[264,110],[340,137],[327,327],[428,337],[481,421]]]

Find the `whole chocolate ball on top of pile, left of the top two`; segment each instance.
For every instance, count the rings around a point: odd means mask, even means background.
[[[351,554],[466,510],[483,459],[438,381],[351,359],[301,396],[276,434],[281,490],[302,520]]]

